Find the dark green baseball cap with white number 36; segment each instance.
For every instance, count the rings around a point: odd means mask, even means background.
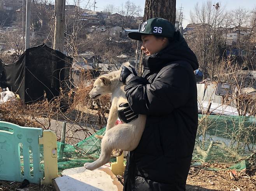
[[[128,36],[134,40],[141,40],[141,35],[144,34],[154,34],[172,38],[174,32],[175,28],[172,23],[166,19],[156,17],[145,21],[139,32],[130,32]]]

